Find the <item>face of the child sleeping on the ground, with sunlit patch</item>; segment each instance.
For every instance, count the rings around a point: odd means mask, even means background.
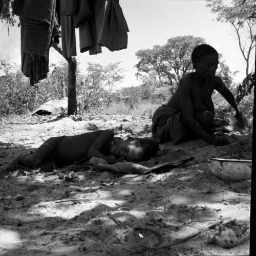
[[[137,140],[118,141],[110,149],[111,155],[128,162],[138,162],[143,155],[143,148]]]

